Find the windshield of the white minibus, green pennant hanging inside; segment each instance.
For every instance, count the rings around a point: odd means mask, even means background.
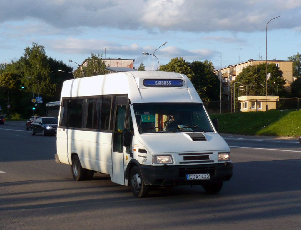
[[[139,132],[213,132],[201,103],[133,104]]]

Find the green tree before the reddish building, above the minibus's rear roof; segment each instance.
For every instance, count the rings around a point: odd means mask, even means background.
[[[91,57],[87,58],[87,66],[82,66],[83,77],[96,76],[106,73],[104,70],[106,65],[102,60],[102,56],[102,54],[100,55],[91,53]]]

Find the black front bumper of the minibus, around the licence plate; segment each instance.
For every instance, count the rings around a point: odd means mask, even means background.
[[[147,185],[199,185],[208,182],[227,181],[232,176],[232,163],[206,165],[139,165]],[[210,180],[186,180],[186,174],[209,173]]]

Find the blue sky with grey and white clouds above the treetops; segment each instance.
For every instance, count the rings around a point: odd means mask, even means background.
[[[300,0],[2,0],[0,63],[18,60],[34,42],[73,68],[69,59],[81,64],[99,53],[151,70],[152,56],[142,52],[167,41],[155,52],[160,65],[183,57],[220,68],[265,60],[267,23],[267,58],[287,60],[301,53],[300,22]]]

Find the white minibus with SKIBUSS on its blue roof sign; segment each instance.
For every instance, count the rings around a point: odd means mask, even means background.
[[[55,161],[71,165],[75,180],[110,174],[137,197],[176,185],[216,193],[233,167],[191,81],[164,71],[65,81]]]

